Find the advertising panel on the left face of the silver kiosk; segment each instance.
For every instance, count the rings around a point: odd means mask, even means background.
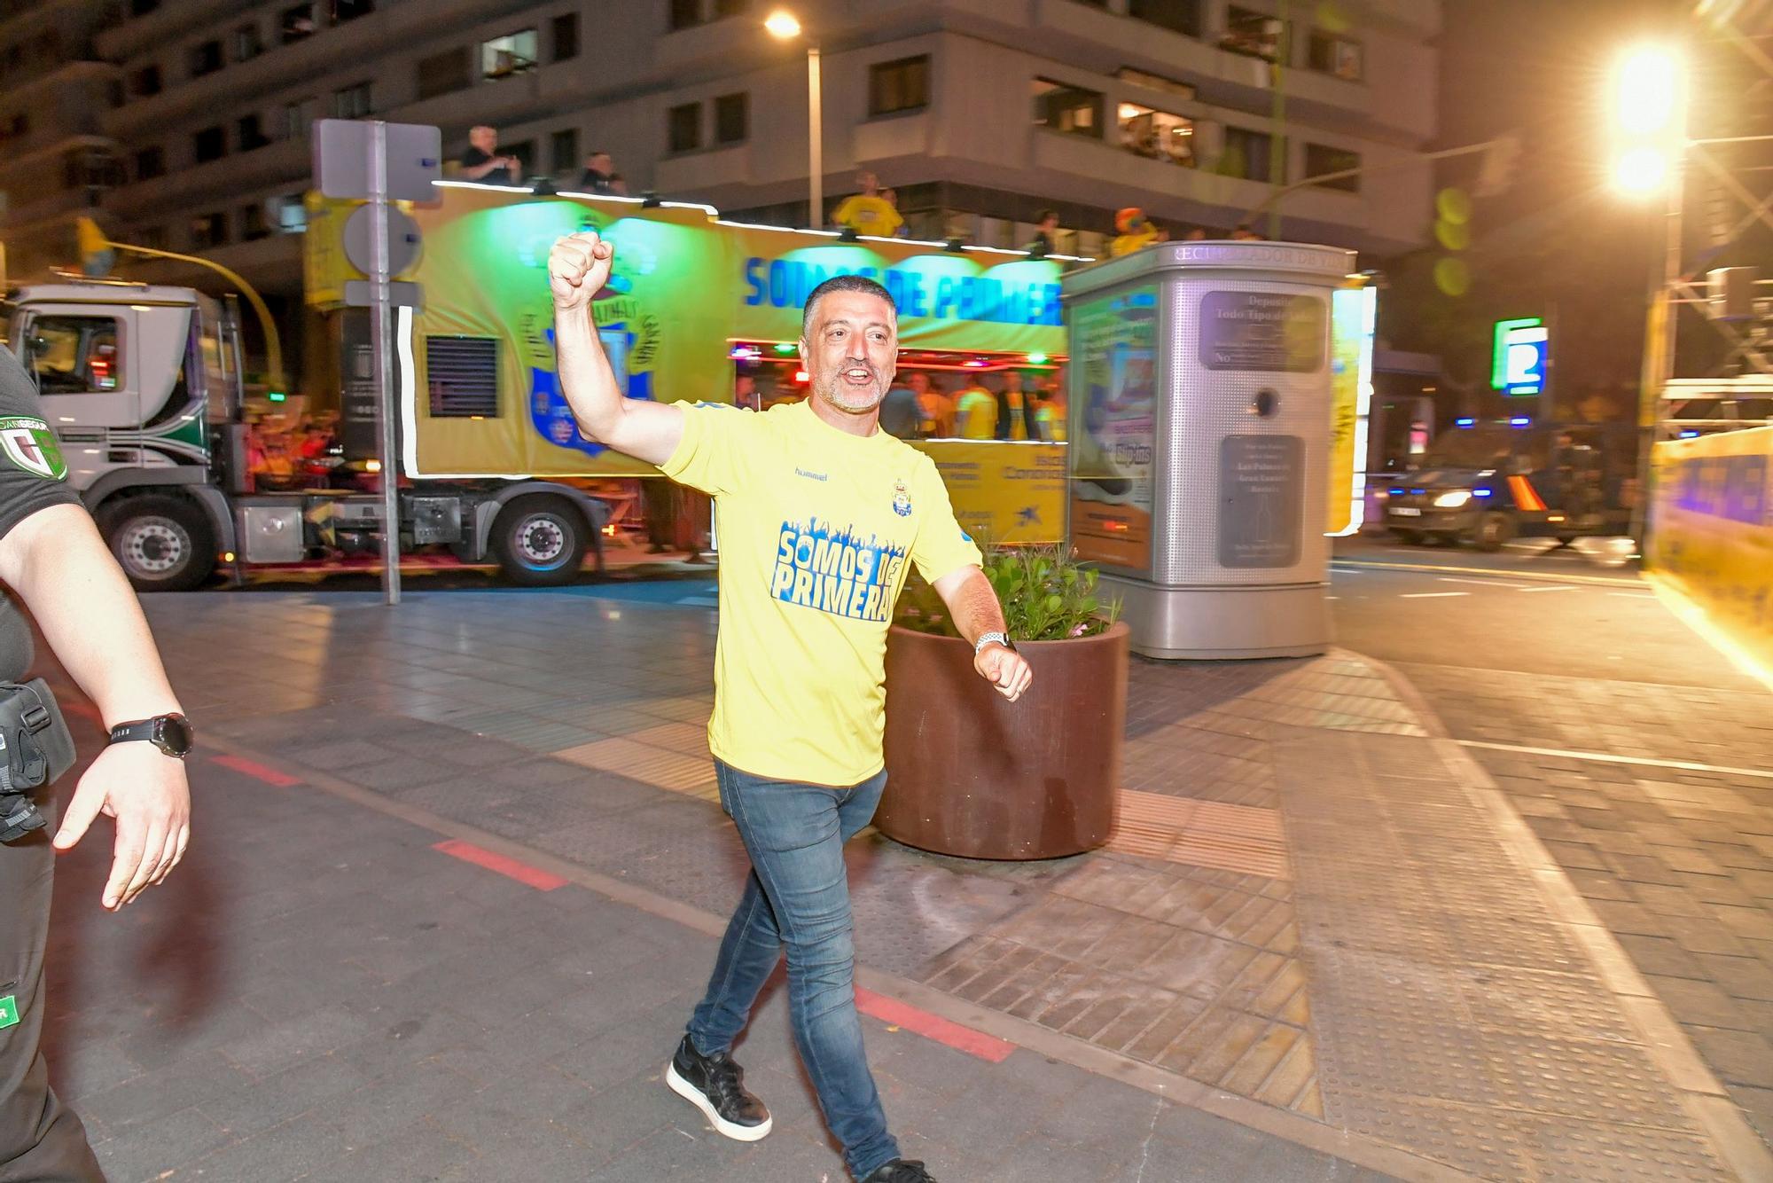
[[[1151,569],[1158,286],[1071,309],[1071,541],[1080,559]]]

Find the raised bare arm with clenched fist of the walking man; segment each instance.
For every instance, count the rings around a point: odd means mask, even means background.
[[[610,280],[613,257],[615,247],[592,231],[567,234],[548,255],[560,392],[587,440],[663,465],[683,440],[683,410],[622,394],[590,314],[592,296]]]

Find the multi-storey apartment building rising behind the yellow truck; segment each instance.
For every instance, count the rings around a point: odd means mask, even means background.
[[[562,190],[606,151],[629,193],[805,225],[810,41],[826,211],[869,168],[917,236],[1021,245],[1053,208],[1094,254],[1122,206],[1223,232],[1282,170],[1395,163],[1434,137],[1438,0],[1291,4],[1285,23],[1282,2],[122,0],[96,39],[122,90],[103,211],[294,296],[309,126],[374,115],[438,124],[452,154],[493,124]],[[773,39],[773,7],[805,35]],[[1293,192],[1282,213],[1285,238],[1397,254],[1425,241],[1429,170]]]

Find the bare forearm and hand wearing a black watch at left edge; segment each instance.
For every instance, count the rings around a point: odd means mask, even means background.
[[[80,505],[50,505],[0,536],[0,580],[25,601],[105,727],[179,711],[142,605]],[[103,903],[115,912],[160,883],[191,837],[184,763],[152,743],[113,743],[80,777],[55,834],[71,850],[98,814],[117,819]]]

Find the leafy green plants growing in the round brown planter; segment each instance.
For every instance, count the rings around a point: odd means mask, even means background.
[[[1004,603],[1011,640],[1094,637],[1121,619],[1121,601],[1096,596],[1096,568],[1064,546],[986,546],[984,571]],[[894,623],[920,633],[959,637],[949,605],[915,573],[906,582]]]

